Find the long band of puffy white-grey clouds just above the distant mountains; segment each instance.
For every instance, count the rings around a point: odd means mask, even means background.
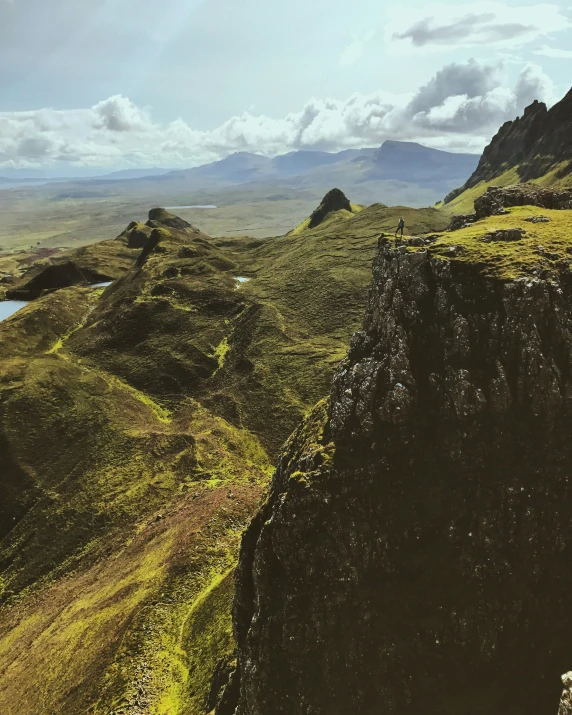
[[[86,109],[0,112],[0,167],[190,167],[234,151],[273,156],[385,139],[478,151],[502,122],[552,93],[536,65],[526,65],[511,89],[501,66],[470,60],[443,67],[413,95],[314,98],[283,118],[245,112],[210,131],[180,118],[157,123],[149,109],[114,95]]]

